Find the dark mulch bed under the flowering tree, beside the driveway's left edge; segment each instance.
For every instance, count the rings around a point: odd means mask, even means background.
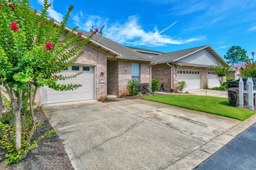
[[[35,112],[38,122],[44,121],[44,124],[37,128],[33,134],[31,141],[41,137],[44,133],[53,130],[50,122],[47,120],[42,109]],[[7,166],[4,163],[5,151],[0,149],[0,169],[73,169],[67,153],[64,149],[63,141],[58,134],[50,135],[49,137],[38,142],[38,147],[30,150],[26,158],[22,159],[19,164]]]

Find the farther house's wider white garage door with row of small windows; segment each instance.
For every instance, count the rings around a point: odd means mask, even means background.
[[[185,90],[200,89],[201,74],[199,71],[178,71],[178,81],[185,81],[187,88]]]

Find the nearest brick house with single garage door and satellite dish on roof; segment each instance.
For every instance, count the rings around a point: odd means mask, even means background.
[[[88,36],[83,32],[83,36]],[[101,99],[107,95],[122,96],[127,94],[129,80],[137,79],[140,83],[150,83],[150,64],[154,60],[134,50],[103,37],[94,35],[85,53],[77,62],[62,72],[72,75],[83,72],[72,80],[60,83],[82,84],[77,90],[55,91],[48,87],[41,88],[36,95],[39,104],[62,103]]]

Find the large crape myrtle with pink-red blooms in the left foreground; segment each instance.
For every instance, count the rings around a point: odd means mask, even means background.
[[[12,103],[15,124],[15,150],[21,150],[22,91],[29,88],[31,117],[35,121],[33,103],[39,87],[74,90],[81,84],[59,84],[58,80],[75,78],[58,73],[73,65],[92,38],[82,38],[77,28],[65,27],[73,6],[60,22],[47,18],[47,0],[41,13],[33,10],[29,0],[0,1],[0,82]],[[1,100],[0,100],[1,101]],[[2,109],[2,107],[1,107]],[[35,123],[35,122],[34,122]]]

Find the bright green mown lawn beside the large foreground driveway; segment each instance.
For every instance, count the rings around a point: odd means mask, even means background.
[[[143,99],[156,101],[173,106],[193,109],[215,115],[235,118],[244,121],[251,117],[254,112],[239,107],[228,106],[227,98],[192,95],[157,95],[146,96]]]

